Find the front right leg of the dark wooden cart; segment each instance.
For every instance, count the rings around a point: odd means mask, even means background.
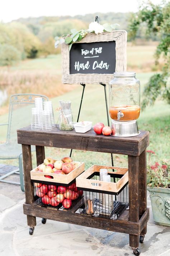
[[[129,221],[139,221],[139,157],[128,156]],[[129,246],[138,248],[139,236],[129,235]]]

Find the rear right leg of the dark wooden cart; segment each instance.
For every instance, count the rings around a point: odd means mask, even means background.
[[[142,216],[147,208],[147,168],[146,168],[146,150],[139,156],[139,215]],[[145,235],[147,231],[147,224],[140,235]],[[140,239],[142,241],[142,239]]]

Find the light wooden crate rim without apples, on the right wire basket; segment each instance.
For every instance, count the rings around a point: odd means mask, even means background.
[[[117,182],[107,182],[101,180],[93,180],[89,177],[92,177],[96,172],[99,174],[100,169],[114,169],[113,171],[108,171],[109,175],[116,175],[117,178],[120,178]],[[122,176],[123,175],[123,176]],[[79,177],[76,178],[76,186],[78,188],[89,189],[91,191],[100,190],[104,192],[115,192],[118,193],[119,190],[123,188],[128,182],[128,168],[123,167],[113,167],[113,166],[101,166],[93,165]]]

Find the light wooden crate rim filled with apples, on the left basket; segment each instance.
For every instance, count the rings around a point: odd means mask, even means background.
[[[54,161],[57,161],[54,159]],[[76,161],[73,161],[76,162]],[[56,173],[45,173],[45,172],[38,172],[38,168],[34,168],[30,171],[31,179],[32,180],[39,180],[39,181],[48,181],[53,183],[62,183],[62,184],[69,184],[73,181],[77,176],[79,176],[85,170],[84,162],[76,162],[79,163],[74,170],[69,172],[68,174],[56,174]],[[46,178],[45,175],[50,175],[53,179]]]

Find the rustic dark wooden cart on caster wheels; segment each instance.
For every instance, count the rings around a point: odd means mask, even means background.
[[[140,255],[139,242],[143,242],[149,219],[149,209],[146,205],[146,148],[149,144],[148,131],[134,137],[118,138],[96,135],[93,130],[85,134],[72,131],[60,131],[56,127],[50,132],[32,131],[24,127],[17,131],[18,143],[22,144],[23,167],[25,181],[24,214],[30,229],[36,226],[36,217],[84,225],[98,229],[111,230],[129,234],[129,246],[135,255]],[[79,204],[70,210],[58,211],[55,208],[36,205],[34,185],[30,179],[32,168],[31,146],[36,145],[37,165],[45,158],[45,147],[72,148],[85,151],[116,153],[128,155],[129,178],[129,210],[123,212],[118,220],[108,220],[91,215],[84,216],[75,213]]]

